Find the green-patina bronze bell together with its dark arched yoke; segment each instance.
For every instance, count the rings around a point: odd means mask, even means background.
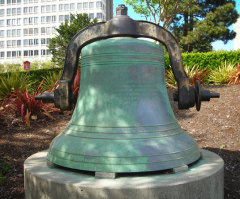
[[[194,139],[177,123],[165,86],[164,53],[168,50],[180,109],[219,97],[192,87],[180,47],[170,32],[134,21],[120,5],[110,21],[90,26],[68,46],[59,88],[38,99],[62,110],[72,106],[71,85],[81,53],[78,101],[67,128],[51,143],[48,160],[63,167],[94,172],[150,172],[191,164],[200,158]]]

